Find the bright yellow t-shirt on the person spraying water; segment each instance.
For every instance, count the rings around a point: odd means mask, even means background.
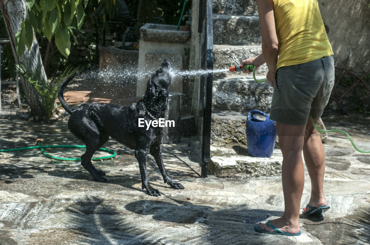
[[[277,68],[333,55],[317,0],[274,0]]]

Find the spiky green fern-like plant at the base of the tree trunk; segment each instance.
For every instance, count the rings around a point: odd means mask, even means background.
[[[67,68],[58,78],[53,78],[50,82],[48,82],[40,80],[40,70],[28,72],[24,65],[16,65],[16,71],[20,75],[24,76],[24,78],[26,78],[28,82],[30,82],[40,94],[48,118],[51,117],[51,115],[53,115],[54,113],[54,103],[58,97],[58,90],[60,85],[68,76],[70,76],[77,70],[78,68]]]

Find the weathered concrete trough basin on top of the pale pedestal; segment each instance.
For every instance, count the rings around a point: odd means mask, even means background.
[[[176,25],[147,23],[140,28],[141,39],[147,42],[185,43],[190,31],[176,31]]]

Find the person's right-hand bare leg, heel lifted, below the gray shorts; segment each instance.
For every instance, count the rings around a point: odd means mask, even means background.
[[[319,118],[314,119],[316,124]],[[303,144],[303,156],[307,171],[311,179],[311,197],[308,204],[312,207],[326,206],[324,196],[324,174],[325,174],[325,151],[320,139],[319,132],[313,127],[311,120],[307,121],[305,141]],[[306,208],[303,213],[312,211]]]

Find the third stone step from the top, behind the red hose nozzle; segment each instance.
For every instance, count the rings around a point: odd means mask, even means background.
[[[213,45],[213,69],[227,69],[231,66],[240,65],[242,60],[254,57],[262,53],[261,45]],[[266,76],[268,68],[266,64],[256,70],[256,75]],[[240,76],[240,72],[226,74],[228,77]],[[216,75],[217,77],[217,75]]]

